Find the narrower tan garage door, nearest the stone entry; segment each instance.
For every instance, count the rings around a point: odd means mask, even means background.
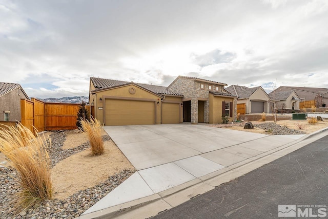
[[[180,123],[180,104],[162,103],[162,124]]]

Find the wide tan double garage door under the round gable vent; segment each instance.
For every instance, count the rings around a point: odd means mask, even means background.
[[[155,102],[106,99],[105,125],[155,124]]]

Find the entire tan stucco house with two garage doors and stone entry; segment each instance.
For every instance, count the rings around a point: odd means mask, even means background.
[[[236,118],[236,96],[223,83],[178,76],[168,87],[90,78],[89,104],[105,126],[220,123]]]

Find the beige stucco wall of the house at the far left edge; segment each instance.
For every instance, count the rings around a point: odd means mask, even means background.
[[[18,88],[0,97],[0,121],[5,121],[4,111],[10,111],[9,122],[21,121],[20,99],[26,96]]]

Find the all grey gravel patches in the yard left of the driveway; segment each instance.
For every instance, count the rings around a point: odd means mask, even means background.
[[[63,150],[61,147],[65,141],[65,131],[50,132],[52,141],[52,166],[64,160],[72,154],[78,153],[89,147],[89,143],[81,144],[75,148]],[[103,136],[104,141],[109,141],[108,135]],[[16,172],[6,167],[7,162],[0,163],[0,218],[75,218],[89,209],[101,198],[124,182],[133,170],[122,170],[108,177],[104,182],[85,189],[65,198],[65,200],[48,200],[40,205],[34,206],[14,215],[12,212],[15,194],[19,192],[18,182],[15,178]]]

